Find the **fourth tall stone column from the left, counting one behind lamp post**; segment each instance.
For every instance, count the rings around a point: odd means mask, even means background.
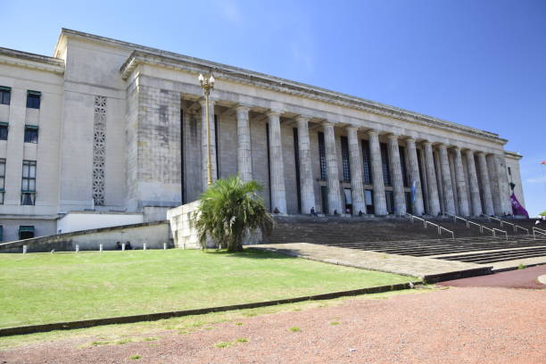
[[[310,157],[309,119],[298,117],[298,151],[300,153],[300,191],[302,213],[310,213],[315,206],[315,190]]]

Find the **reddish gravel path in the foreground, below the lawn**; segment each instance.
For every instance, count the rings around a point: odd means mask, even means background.
[[[0,352],[0,363],[546,362],[542,290],[455,287],[237,322],[242,325],[166,332],[150,343],[34,343]],[[237,338],[247,342],[234,343]],[[232,344],[216,347],[221,342]],[[139,357],[129,359],[134,355]]]

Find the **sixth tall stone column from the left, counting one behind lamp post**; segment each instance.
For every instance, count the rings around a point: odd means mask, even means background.
[[[360,211],[366,213],[364,186],[362,185],[362,161],[360,160],[358,128],[347,128],[347,136],[349,139],[349,162],[351,164],[352,214],[358,215]]]

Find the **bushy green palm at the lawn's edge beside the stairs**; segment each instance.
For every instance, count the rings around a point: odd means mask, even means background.
[[[273,219],[258,194],[261,185],[241,178],[218,179],[201,194],[201,204],[194,213],[194,227],[203,246],[207,239],[227,247],[227,252],[241,252],[246,232],[260,229],[269,235]]]

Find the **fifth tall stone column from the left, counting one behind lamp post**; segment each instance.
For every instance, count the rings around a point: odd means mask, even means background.
[[[337,153],[335,148],[334,124],[324,124],[324,142],[327,157],[327,185],[328,185],[328,207],[330,215],[343,213],[341,205],[341,190],[339,186],[339,177],[337,175]]]

